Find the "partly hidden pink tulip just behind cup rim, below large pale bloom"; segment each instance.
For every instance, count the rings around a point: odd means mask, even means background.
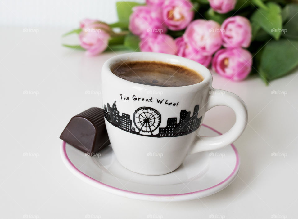
[[[208,67],[212,56],[203,56],[200,54],[199,51],[197,51],[196,49],[192,48],[190,45],[188,45],[183,37],[178,37],[177,39],[175,39],[176,42],[176,46],[177,46],[177,55],[178,56],[182,56],[191,60],[194,60],[202,65],[204,65],[205,67]]]

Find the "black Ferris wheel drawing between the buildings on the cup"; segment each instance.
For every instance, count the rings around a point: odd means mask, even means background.
[[[161,115],[151,107],[140,107],[133,113],[133,123],[139,130],[138,133],[151,133],[160,126]]]

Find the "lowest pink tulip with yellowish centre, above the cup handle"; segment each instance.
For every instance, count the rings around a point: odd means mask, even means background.
[[[212,69],[233,81],[241,81],[251,72],[251,53],[241,47],[217,51],[212,60]]]

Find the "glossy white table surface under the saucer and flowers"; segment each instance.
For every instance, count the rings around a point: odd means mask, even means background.
[[[236,93],[248,107],[247,128],[235,142],[241,159],[238,176],[202,199],[139,201],[95,189],[60,158],[59,136],[70,118],[102,106],[96,94],[101,67],[115,53],[86,57],[61,47],[66,30],[38,31],[2,28],[0,34],[1,218],[296,218],[297,72],[269,86],[257,77],[232,82],[213,74],[214,88]],[[231,109],[216,107],[203,123],[226,132],[234,122]],[[274,152],[286,156],[272,156]]]

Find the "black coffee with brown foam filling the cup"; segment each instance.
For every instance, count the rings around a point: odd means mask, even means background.
[[[157,61],[122,62],[111,71],[127,81],[161,87],[179,87],[199,83],[203,77],[181,65]]]

